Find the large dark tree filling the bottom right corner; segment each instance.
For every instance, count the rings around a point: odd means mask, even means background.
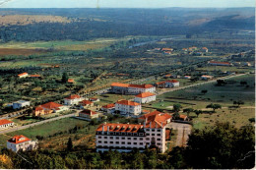
[[[250,169],[255,164],[254,128],[229,123],[195,130],[189,137],[185,162],[192,169]]]

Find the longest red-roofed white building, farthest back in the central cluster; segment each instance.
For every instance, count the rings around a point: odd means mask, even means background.
[[[154,85],[129,85],[113,83],[111,84],[111,91],[122,94],[139,94],[142,92],[155,92],[156,87]]]

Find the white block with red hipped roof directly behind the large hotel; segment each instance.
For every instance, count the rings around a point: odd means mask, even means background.
[[[142,112],[142,105],[134,101],[119,100],[115,103],[115,110],[120,111],[122,115],[139,115]]]

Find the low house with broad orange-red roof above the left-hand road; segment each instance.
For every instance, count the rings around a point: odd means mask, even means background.
[[[42,115],[48,115],[51,113],[57,113],[67,110],[66,106],[63,106],[61,104],[55,103],[55,102],[48,102],[42,105],[39,105],[35,107],[35,109],[32,112],[33,116],[42,116]]]

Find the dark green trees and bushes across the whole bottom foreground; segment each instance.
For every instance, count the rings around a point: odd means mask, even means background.
[[[228,137],[228,138],[226,138]],[[70,140],[69,140],[70,141]],[[252,168],[254,167],[254,128],[236,129],[228,123],[194,131],[187,147],[174,147],[166,154],[158,149],[119,153],[96,153],[88,147],[66,142],[62,151],[38,149],[14,153],[2,149],[1,168],[38,169],[169,169],[169,168]],[[242,145],[242,146],[241,146]]]

